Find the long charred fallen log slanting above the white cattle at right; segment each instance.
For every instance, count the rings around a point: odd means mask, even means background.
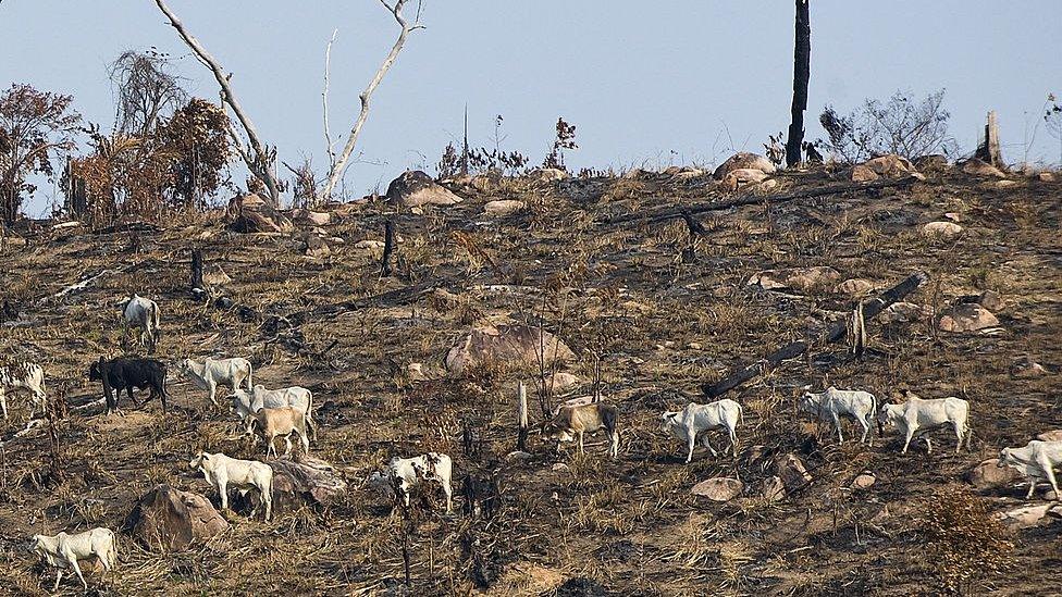
[[[897,284],[892,288],[881,293],[877,297],[863,301],[863,321],[870,320],[893,302],[913,293],[928,279],[929,276],[925,273],[916,272],[907,276],[900,284]],[[833,344],[845,338],[848,336],[848,331],[849,321],[848,319],[842,319],[833,323],[826,334],[820,336],[817,340],[796,340],[794,343],[787,344],[786,346],[767,355],[763,359],[730,372],[729,375],[723,377],[714,384],[704,384],[701,386],[701,391],[704,393],[704,396],[707,398],[716,398],[721,396],[748,382],[749,380],[763,375],[770,369],[781,364],[782,361],[800,357],[812,347],[813,343],[818,345]]]

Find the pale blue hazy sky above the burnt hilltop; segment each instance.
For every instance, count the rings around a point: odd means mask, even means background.
[[[217,84],[152,0],[0,0],[0,85],[73,94],[87,120],[113,120],[107,64],[151,46],[178,60],[188,89]],[[342,140],[358,94],[394,41],[375,0],[170,0],[192,32],[234,73],[245,109],[281,159],[325,165],[321,120],[324,48],[333,28],[332,129]],[[972,150],[985,113],[1000,115],[1004,158],[1025,156],[1026,130],[1049,91],[1062,92],[1058,0],[812,0],[807,132],[817,115],[897,89],[947,89],[951,130]],[[411,11],[407,11],[411,12]],[[577,126],[570,166],[712,163],[762,150],[789,123],[793,4],[789,1],[424,0],[424,30],[410,35],[373,96],[347,188],[363,194],[406,167],[431,166],[460,137],[468,104],[473,145],[541,160],[557,116]],[[1042,126],[1029,160],[1059,162]],[[371,162],[371,163],[369,163]],[[29,206],[39,214],[52,188]]]

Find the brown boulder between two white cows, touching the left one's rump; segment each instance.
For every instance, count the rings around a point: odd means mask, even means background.
[[[332,464],[310,456],[281,457],[273,469],[273,512],[302,506],[331,506],[346,499],[347,483]]]

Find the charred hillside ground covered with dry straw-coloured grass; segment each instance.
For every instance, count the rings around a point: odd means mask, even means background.
[[[836,184],[832,177],[785,175],[771,192]],[[402,242],[392,277],[380,276],[378,256],[355,247],[382,240],[383,222],[393,215],[381,204],[343,210],[342,221],[326,226],[343,242],[331,241],[324,260],[304,257],[289,235],[229,233],[217,213],[173,217],[139,233],[36,227],[25,234],[27,247],[0,257],[0,295],[32,320],[0,327],[0,351],[40,362],[52,391],[71,406],[90,402],[99,388],[87,382],[88,365],[121,352],[114,303],[136,290],[161,306],[159,358],[245,356],[257,382],[314,391],[321,433],[313,455],[344,472],[347,499],[269,523],[226,513],[229,533],[184,552],[159,556],[125,536],[120,571],[106,581],[104,593],[403,593],[404,523],[361,482],[392,456],[440,450],[455,459],[458,493],[466,474],[496,472],[503,507],[491,520],[460,512],[461,497],[453,515],[415,508],[406,525],[411,594],[938,594],[922,514],[927,503],[1000,447],[1062,427],[1062,184],[1015,179],[999,188],[938,172],[911,186],[711,212],[700,216],[707,235],[696,241],[692,262],[680,254],[689,242],[681,220],[608,222],[729,197],[702,178],[455,187],[468,197],[460,206],[394,216]],[[499,198],[524,200],[528,209],[481,215],[484,201]],[[921,225],[944,213],[956,214],[963,234],[926,239]],[[193,247],[232,277],[226,295],[258,316],[190,300]],[[865,357],[848,357],[842,345],[815,346],[812,356],[729,393],[745,407],[739,457],[712,458],[699,449],[690,465],[682,464],[681,447],[657,430],[662,410],[703,401],[702,383],[817,334],[851,310],[852,299],[832,284],[800,293],[745,284],[760,270],[805,265],[829,265],[840,272],[838,282],[863,277],[880,288],[923,271],[930,282],[907,300],[938,310],[995,290],[1005,302],[997,313],[1002,329],[952,335],[936,332],[931,318],[870,321]],[[36,307],[104,270],[122,272]],[[432,291],[435,286],[449,294]],[[386,294],[409,287],[428,290]],[[328,309],[357,299],[366,300]],[[275,315],[301,325],[293,329]],[[473,323],[540,319],[577,353],[601,355],[605,399],[621,413],[618,460],[605,458],[600,436],[584,457],[570,449],[558,456],[532,435],[530,459],[506,458],[515,448],[518,381],[532,384],[532,421],[541,420],[536,371],[491,370],[417,384],[404,378],[410,362],[441,375],[442,356]],[[1013,374],[1023,357],[1050,374]],[[588,380],[590,359],[569,370]],[[973,449],[955,455],[948,432],[935,435],[933,455],[919,444],[900,456],[894,432],[873,448],[838,446],[798,415],[805,384],[865,388],[885,399],[902,388],[964,397],[972,405]],[[200,448],[263,458],[261,446],[230,438],[227,410],[212,408],[205,393],[172,373],[170,391],[169,415],[158,403],[106,416],[99,407],[71,410],[59,423],[64,477],[58,482],[49,475],[46,426],[11,438],[28,414],[13,409],[4,423],[0,485],[4,593],[50,588],[53,576],[25,551],[32,534],[118,528],[135,500],[162,482],[217,503],[186,468]],[[471,453],[462,447],[466,427],[478,437]],[[847,436],[853,433],[845,427]],[[760,486],[774,474],[775,457],[790,452],[814,481],[768,503],[757,497]],[[849,489],[863,471],[877,482]],[[690,495],[694,483],[718,475],[740,477],[746,494],[725,503]],[[1015,486],[973,499],[1000,510],[1018,503],[1024,492]],[[1036,499],[1042,500],[1042,489]],[[966,588],[1057,592],[1060,530],[1057,522],[1007,531],[1012,568],[979,575]],[[66,580],[61,590],[79,588]]]

